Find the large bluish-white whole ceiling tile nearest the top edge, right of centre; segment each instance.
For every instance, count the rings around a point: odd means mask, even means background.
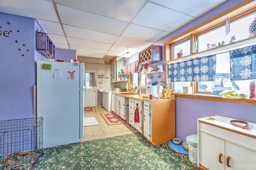
[[[194,18],[163,8],[162,6],[147,3],[132,23],[171,32],[192,19]]]

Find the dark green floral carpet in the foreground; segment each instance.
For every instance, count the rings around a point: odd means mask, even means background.
[[[198,170],[168,143],[157,146],[139,133],[46,148],[35,170]]]

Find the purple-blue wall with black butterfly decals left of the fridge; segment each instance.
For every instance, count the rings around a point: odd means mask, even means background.
[[[34,19],[0,13],[0,120],[33,117]]]

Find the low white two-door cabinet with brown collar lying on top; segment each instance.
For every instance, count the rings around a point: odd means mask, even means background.
[[[200,170],[255,169],[256,133],[230,125],[231,118],[198,119],[198,168]]]

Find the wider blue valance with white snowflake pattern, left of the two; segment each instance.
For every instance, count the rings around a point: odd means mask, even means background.
[[[168,81],[214,81],[216,55],[181,61],[167,65]]]

